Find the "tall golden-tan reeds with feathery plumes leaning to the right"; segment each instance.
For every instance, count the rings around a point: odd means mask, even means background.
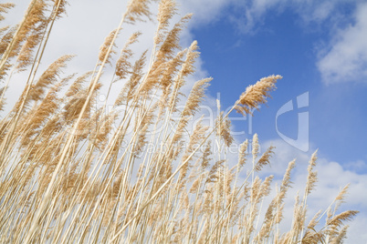
[[[211,80],[197,81],[184,99],[182,87],[199,56],[195,41],[185,49],[179,45],[191,15],[170,28],[176,5],[162,0],[152,55],[144,52],[131,61],[131,46],[140,36],[135,33],[118,56],[115,43],[123,25],[152,19],[150,4],[129,3],[101,46],[94,70],[81,76],[61,76],[72,56],[38,70],[65,0],[32,0],[19,25],[0,29],[2,108],[13,72],[28,74],[21,97],[0,121],[0,242],[341,243],[343,222],[357,213],[336,213],[347,188],[326,209],[323,227],[317,227],[320,213],[306,224],[307,198],[317,180],[316,154],[303,198],[296,198],[293,222],[284,232],[279,223],[295,161],[265,208],[273,177],[262,179],[257,172],[269,164],[274,148],[260,155],[255,135],[241,144],[232,168],[212,151],[211,138],[224,147],[234,142],[228,114],[235,109],[249,113],[266,103],[281,76],[248,86],[214,127],[199,120],[189,131]],[[12,7],[0,4],[0,21]],[[112,109],[107,102],[96,108],[107,64],[115,69],[107,86],[124,86],[112,97]],[[155,147],[148,150],[148,145]]]

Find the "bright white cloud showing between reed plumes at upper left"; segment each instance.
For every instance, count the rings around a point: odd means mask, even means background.
[[[197,2],[197,1],[196,1]],[[217,2],[217,3],[216,3]],[[175,15],[171,24],[174,25],[179,19],[187,13],[195,12],[203,19],[207,19],[210,15],[210,11],[217,11],[221,8],[223,1],[214,2],[210,8],[204,8],[202,3],[195,4],[193,9],[190,9],[190,5],[186,2],[183,5],[183,9],[179,9],[179,15]],[[194,3],[194,2],[193,2]],[[5,15],[5,20],[1,25],[16,25],[23,17],[26,6],[29,3],[22,0],[16,3],[16,7],[9,11],[8,15]],[[65,76],[68,74],[78,73],[82,75],[85,72],[93,70],[100,52],[100,46],[103,44],[106,36],[110,31],[115,29],[121,20],[121,15],[126,9],[128,0],[122,0],[118,3],[113,0],[106,0],[103,5],[100,5],[99,1],[80,0],[75,3],[70,3],[67,6],[67,15],[58,19],[55,23],[50,38],[47,42],[45,55],[42,58],[41,65],[37,71],[37,77],[54,62],[59,56],[66,54],[76,55],[69,63],[68,69],[65,72]],[[208,3],[206,3],[208,4]],[[88,6],[88,11],[86,9]],[[185,8],[184,8],[185,6]],[[158,4],[153,3],[151,11],[153,14],[158,12]],[[206,17],[204,17],[206,15]],[[136,25],[123,25],[121,34],[116,41],[117,53],[120,53],[125,41],[131,36],[133,32],[141,31],[142,36],[139,38],[139,43],[132,46],[135,53],[135,58],[140,56],[146,49],[152,50],[153,36],[156,30],[156,21],[146,21],[144,23],[137,23]],[[193,22],[193,21],[192,21]],[[193,41],[189,29],[184,29],[182,34],[182,46],[190,46]],[[200,45],[200,44],[199,44]],[[151,55],[148,52],[148,58]],[[117,59],[117,55],[114,56]],[[188,94],[193,86],[194,82],[198,79],[202,79],[207,75],[201,66],[202,61],[198,58],[196,66],[196,74],[187,79],[187,86],[184,86],[184,93]],[[111,74],[113,70],[110,66],[107,66],[104,70],[102,80],[106,87],[102,88],[102,92],[107,93],[107,88],[110,84]],[[14,74],[12,81],[9,84],[9,88],[6,91],[7,104],[6,110],[9,110],[16,103],[17,97],[19,97],[23,86],[26,84],[27,74],[22,72],[20,74]],[[21,87],[21,88],[20,88]],[[111,91],[110,97],[117,97],[121,89],[121,84],[115,83]],[[213,103],[213,98],[209,97],[210,102]]]

